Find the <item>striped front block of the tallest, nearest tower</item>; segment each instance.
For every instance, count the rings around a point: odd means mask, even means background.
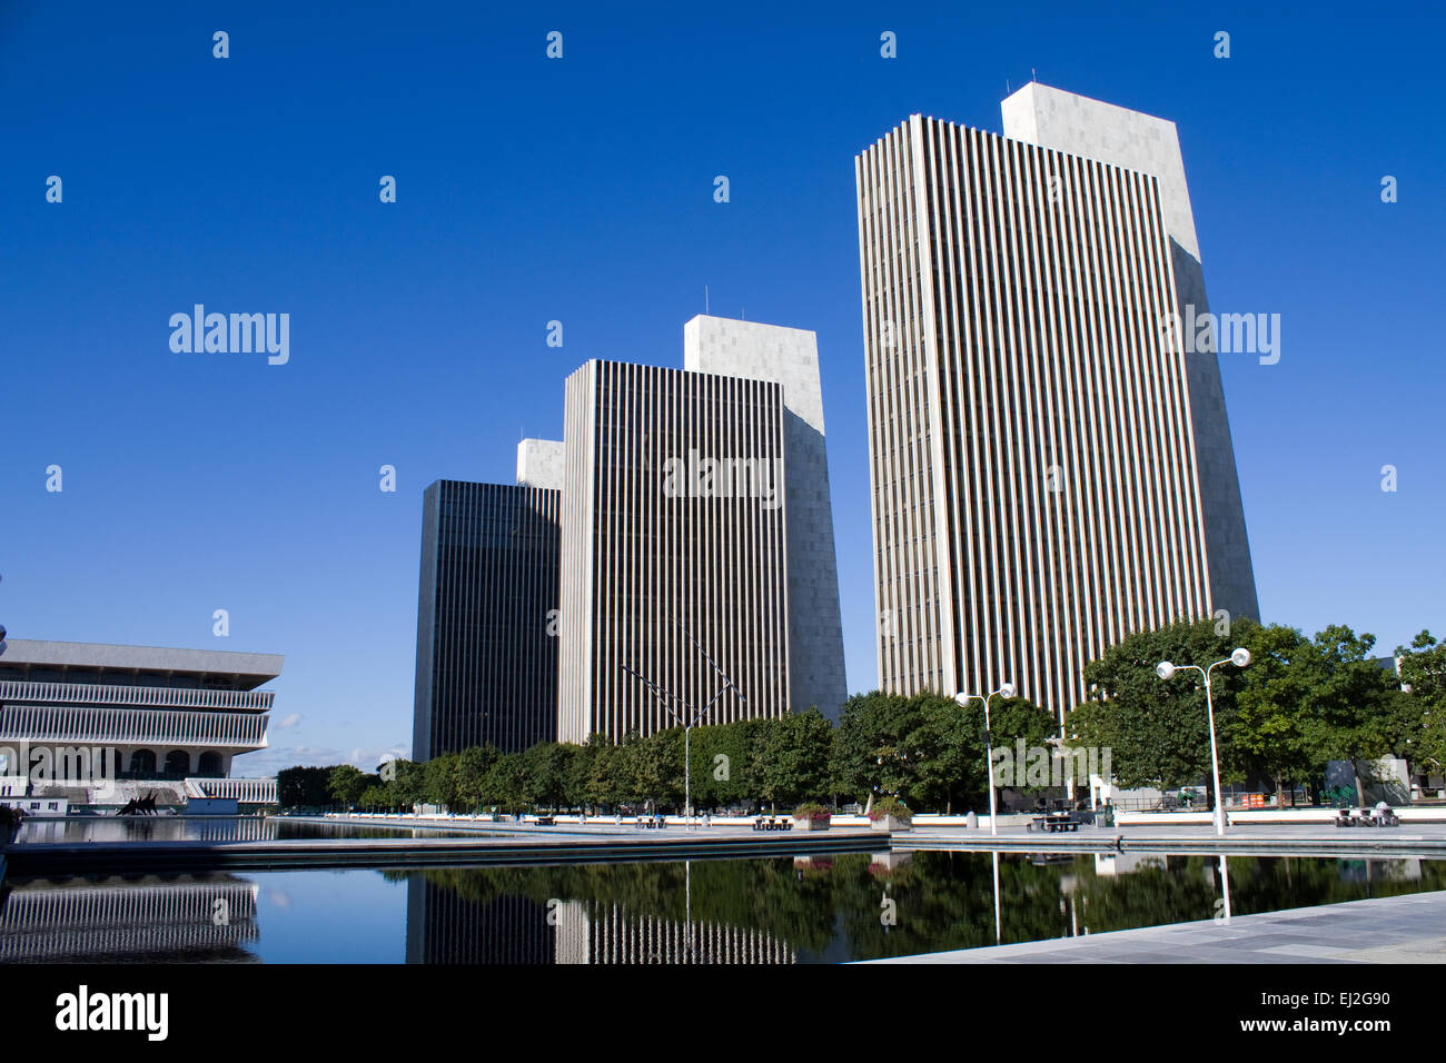
[[[1212,577],[1161,181],[921,116],[856,178],[881,687],[1063,719],[1105,648],[1252,583]]]

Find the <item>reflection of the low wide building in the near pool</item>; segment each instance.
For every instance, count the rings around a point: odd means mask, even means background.
[[[252,963],[256,897],[233,875],[17,884],[0,902],[0,963]]]

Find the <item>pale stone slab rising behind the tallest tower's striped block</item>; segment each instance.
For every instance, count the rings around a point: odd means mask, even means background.
[[[1089,97],[1030,82],[1001,106],[1004,135],[1025,143],[1083,155],[1126,169],[1152,174],[1160,181],[1160,210],[1170,240],[1176,307],[1194,317],[1207,314],[1200,242],[1194,233],[1190,188],[1184,181],[1184,159],[1176,124],[1139,111]],[[1213,340],[1213,337],[1210,337]],[[1200,505],[1205,512],[1205,547],[1209,558],[1210,607],[1232,618],[1259,619],[1255,599],[1255,570],[1245,534],[1245,508],[1235,471],[1231,421],[1220,388],[1220,363],[1213,343],[1186,349],[1190,385],[1190,425],[1200,474]]]

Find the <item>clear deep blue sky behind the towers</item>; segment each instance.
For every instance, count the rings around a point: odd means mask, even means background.
[[[972,7],[0,6],[0,622],[283,652],[244,774],[406,752],[422,489],[510,483],[587,359],[680,364],[709,285],[818,333],[870,688],[853,156],[914,111],[998,130],[1032,68],[1174,120],[1213,308],[1283,315],[1278,364],[1222,359],[1265,619],[1446,633],[1439,16]],[[195,302],[289,312],[289,364],[172,353]]]

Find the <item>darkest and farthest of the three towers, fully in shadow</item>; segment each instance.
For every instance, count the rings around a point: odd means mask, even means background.
[[[557,739],[558,508],[548,487],[437,480],[427,489],[415,759]]]

